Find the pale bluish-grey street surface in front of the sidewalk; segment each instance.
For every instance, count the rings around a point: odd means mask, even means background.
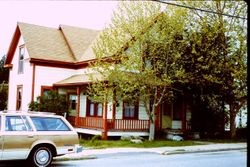
[[[112,153],[96,159],[58,161],[53,167],[246,167],[246,150],[161,155],[150,152]]]

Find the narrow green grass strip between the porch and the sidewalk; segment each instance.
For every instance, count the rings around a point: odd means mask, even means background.
[[[205,144],[203,142],[185,140],[185,141],[169,141],[169,140],[145,140],[143,143],[136,144],[130,141],[122,140],[80,140],[83,147],[89,148],[116,148],[116,147],[135,147],[135,148],[154,148],[154,147],[177,147],[177,146],[192,146]]]

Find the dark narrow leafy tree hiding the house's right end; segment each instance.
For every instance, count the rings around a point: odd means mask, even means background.
[[[188,76],[183,91],[192,102],[192,129],[200,132],[224,131],[225,111],[220,88],[227,72],[223,62],[218,63],[225,53],[221,42],[224,36],[219,29],[218,24],[204,20],[199,29],[188,33],[189,44],[181,56]]]

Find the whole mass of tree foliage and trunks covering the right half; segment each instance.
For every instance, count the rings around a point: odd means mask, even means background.
[[[214,128],[222,130],[228,104],[233,136],[235,115],[247,99],[246,20],[222,13],[244,17],[246,6],[231,1],[180,2],[217,12],[211,14],[170,6],[162,12],[155,2],[127,3],[121,3],[94,45],[98,61],[93,68],[105,82],[95,80],[90,86],[93,99],[115,103],[139,98],[154,124],[156,108],[176,92],[183,93],[193,101],[193,110],[198,107],[194,118],[204,110],[208,121],[221,121]],[[150,128],[151,139],[153,135]]]

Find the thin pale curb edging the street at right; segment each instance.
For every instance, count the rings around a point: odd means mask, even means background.
[[[233,150],[246,150],[246,148],[222,148],[211,150],[174,150],[163,152],[162,155],[174,155],[174,154],[189,154],[189,153],[204,153],[204,152],[220,152],[220,151],[233,151]]]

